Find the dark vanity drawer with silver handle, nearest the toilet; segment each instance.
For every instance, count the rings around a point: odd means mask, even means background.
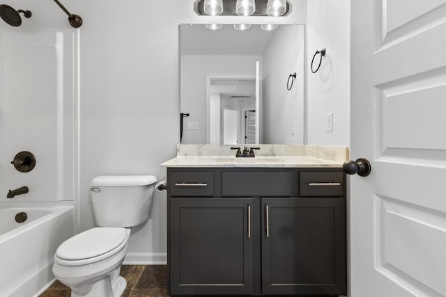
[[[171,196],[213,196],[214,172],[170,172],[169,191]]]

